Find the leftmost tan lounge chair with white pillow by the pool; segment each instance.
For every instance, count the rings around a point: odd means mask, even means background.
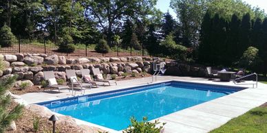
[[[49,88],[57,88],[58,91],[60,91],[60,89],[65,89],[65,88],[70,89],[69,86],[58,85],[58,83],[56,82],[56,78],[54,76],[54,71],[44,71],[43,75],[45,76],[45,80],[49,82],[48,85]],[[43,90],[45,90],[45,88]]]

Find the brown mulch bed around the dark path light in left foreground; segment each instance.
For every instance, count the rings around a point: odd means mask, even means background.
[[[17,103],[12,102],[9,108],[14,108],[17,106]],[[34,112],[23,108],[23,114],[17,121],[15,121],[17,130],[16,131],[7,131],[10,133],[17,133],[17,132],[34,132],[33,129],[33,118],[39,117],[38,114],[35,114]],[[46,117],[43,117],[40,119],[39,123],[39,130],[37,132],[52,132],[52,121],[49,121]],[[69,123],[63,124],[63,123],[56,123],[56,132],[83,132],[82,128],[74,127],[73,125],[70,125]]]

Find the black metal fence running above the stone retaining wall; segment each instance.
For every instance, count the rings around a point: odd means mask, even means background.
[[[94,50],[96,45],[74,44],[73,53],[59,52],[56,41],[44,38],[21,38],[17,36],[11,40],[0,40],[0,53],[44,53],[63,56],[149,56],[145,45],[136,49],[133,45],[110,45],[109,53],[98,53]],[[3,45],[3,43],[8,43]]]

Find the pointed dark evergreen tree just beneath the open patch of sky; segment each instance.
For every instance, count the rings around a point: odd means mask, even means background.
[[[169,14],[169,11],[166,14],[164,14],[164,19],[162,23],[162,33],[164,38],[171,32],[175,31],[175,23],[176,22],[173,19],[173,16]]]

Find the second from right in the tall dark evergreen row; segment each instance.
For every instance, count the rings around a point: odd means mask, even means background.
[[[250,20],[250,14],[247,13],[242,17],[239,29],[239,45],[238,45],[239,50],[237,51],[237,56],[239,56],[239,58],[242,56],[244,51],[248,49],[248,47],[251,45],[250,33],[251,33],[251,20]]]

